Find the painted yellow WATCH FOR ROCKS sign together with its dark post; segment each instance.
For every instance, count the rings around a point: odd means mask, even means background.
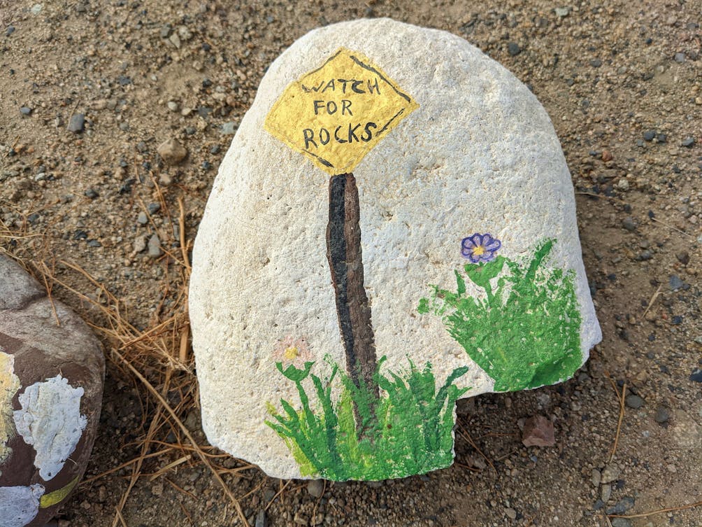
[[[364,289],[360,204],[352,170],[370,150],[418,108],[369,58],[340,48],[324,65],[290,84],[265,120],[265,129],[329,179],[327,259],[336,298],[346,368],[356,389],[368,393],[372,415],[378,368],[371,308]],[[357,429],[368,426],[355,401]]]

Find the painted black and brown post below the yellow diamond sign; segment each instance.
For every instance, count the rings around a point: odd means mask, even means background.
[[[347,372],[358,389],[368,390],[372,410],[379,396],[373,376],[378,360],[371,324],[371,307],[364,289],[361,252],[360,205],[353,174],[329,180],[329,224],[326,228],[327,259],[331,270],[336,312],[346,355]],[[359,431],[364,427],[355,403]]]

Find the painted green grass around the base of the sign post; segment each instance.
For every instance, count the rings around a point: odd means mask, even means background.
[[[453,370],[437,390],[430,363],[420,369],[409,360],[408,369],[386,377],[379,373],[384,361],[378,361],[375,377],[377,401],[336,364],[329,363],[331,375],[322,380],[312,373],[312,362],[302,369],[277,363],[296,384],[302,409],[281,399],[283,412],[269,405],[273,419],[266,424],[283,438],[303,476],[380,480],[423,474],[453,462],[453,405],[468,390],[453,382],[468,367]],[[336,398],[335,382],[340,383]]]

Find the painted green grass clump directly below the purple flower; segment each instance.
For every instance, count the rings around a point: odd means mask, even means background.
[[[495,391],[553,384],[581,365],[575,273],[545,268],[553,243],[541,242],[523,264],[497,256],[466,265],[465,277],[484,290],[484,299],[466,294],[464,275],[455,271],[456,292],[432,286],[431,298],[420,300],[418,311],[442,317],[451,337],[495,380]]]

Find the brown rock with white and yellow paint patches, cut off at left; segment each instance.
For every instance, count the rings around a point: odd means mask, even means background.
[[[105,359],[18,263],[0,256],[0,276],[0,525],[43,526],[88,464]]]

